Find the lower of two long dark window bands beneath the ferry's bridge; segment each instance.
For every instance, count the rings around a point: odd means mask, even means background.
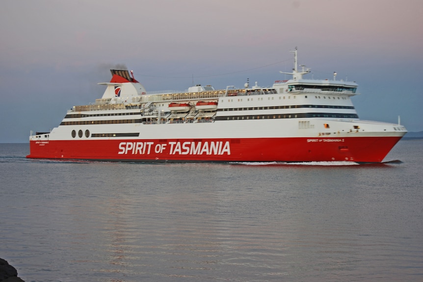
[[[277,115],[243,115],[215,117],[215,121],[223,120],[260,120],[260,119],[291,119],[291,118],[348,118],[358,119],[357,114],[344,113],[298,113],[298,114],[277,114]]]

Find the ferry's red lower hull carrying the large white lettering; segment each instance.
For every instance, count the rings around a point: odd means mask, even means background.
[[[107,161],[381,162],[401,137],[30,141],[28,158]]]

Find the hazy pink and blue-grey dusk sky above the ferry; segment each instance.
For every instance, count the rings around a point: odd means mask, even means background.
[[[147,91],[356,81],[360,119],[423,130],[422,0],[2,0],[0,143],[57,127],[127,68]]]

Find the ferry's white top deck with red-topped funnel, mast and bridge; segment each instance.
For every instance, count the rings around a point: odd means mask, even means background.
[[[357,95],[357,83],[343,80],[336,80],[334,73],[333,80],[329,79],[304,79],[303,75],[310,73],[310,69],[298,70],[297,66],[297,50],[294,53],[294,68],[292,73],[284,73],[292,75],[289,80],[277,80],[272,87],[260,87],[257,82],[254,86],[249,87],[249,83],[245,83],[244,88],[235,86],[227,86],[226,89],[215,90],[211,85],[201,86],[195,85],[189,87],[187,91],[161,91],[147,92],[144,86],[139,83],[132,74],[130,77],[128,71],[110,70],[113,77],[110,82],[99,83],[107,85],[107,89],[101,99],[96,99],[94,104],[74,106],[71,111],[98,111],[98,110],[124,110],[124,109],[144,109],[146,105],[151,108],[151,104],[159,105],[160,110],[167,107],[170,102],[196,103],[199,101],[218,102],[221,97],[234,96],[254,96],[268,94],[282,94],[287,98],[295,98],[294,95],[308,94],[330,96],[342,96],[345,100],[348,96]],[[285,97],[284,97],[285,99]],[[347,99],[349,100],[349,99]]]

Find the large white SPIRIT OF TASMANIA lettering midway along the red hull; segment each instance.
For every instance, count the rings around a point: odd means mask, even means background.
[[[156,154],[169,155],[231,154],[229,141],[172,141],[168,143],[158,143],[156,145],[154,142],[120,142],[118,154],[151,154],[152,148],[154,148],[154,153]]]

